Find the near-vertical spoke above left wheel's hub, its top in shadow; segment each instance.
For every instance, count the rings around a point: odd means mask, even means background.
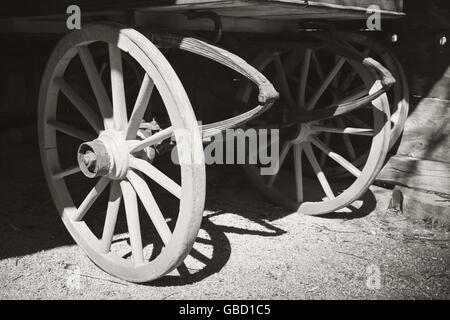
[[[109,64],[111,66],[111,93],[113,102],[114,127],[124,130],[127,126],[127,102],[123,84],[122,53],[114,44],[108,44]]]

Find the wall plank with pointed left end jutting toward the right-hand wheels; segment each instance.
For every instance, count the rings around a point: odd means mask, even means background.
[[[450,163],[393,156],[377,181],[450,195]]]

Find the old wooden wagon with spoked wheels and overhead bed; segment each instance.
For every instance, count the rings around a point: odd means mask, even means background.
[[[262,148],[279,152],[276,171],[261,174],[259,152],[250,149],[243,168],[275,203],[311,215],[352,206],[381,169],[408,109],[395,57],[367,35],[330,23],[365,21],[374,2],[382,19],[402,16],[401,1],[366,0],[29,1],[5,8],[1,23],[11,31],[66,33],[42,78],[39,143],[56,208],[90,259],[134,282],[179,267],[202,220],[202,142],[227,129],[270,129]],[[70,4],[81,9],[82,26],[68,32]],[[228,47],[250,49],[252,61]],[[230,101],[239,113],[198,125],[168,62],[180,50],[233,70],[239,85]],[[102,193],[103,208],[96,201]],[[125,251],[113,241],[122,199]],[[90,210],[105,212],[103,221],[91,223]]]

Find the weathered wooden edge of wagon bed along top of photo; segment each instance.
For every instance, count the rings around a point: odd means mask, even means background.
[[[2,8],[0,19],[66,16],[73,1],[18,1]],[[24,5],[26,4],[26,5]],[[86,14],[124,10],[152,12],[214,11],[221,16],[264,19],[358,19],[367,17],[367,8],[377,5],[384,17],[402,16],[403,0],[84,0],[78,1]]]

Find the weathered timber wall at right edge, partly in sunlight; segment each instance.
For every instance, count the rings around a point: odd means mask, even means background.
[[[411,214],[450,221],[450,3],[406,1],[391,32],[410,87],[410,114],[396,155],[378,179],[399,186]],[[439,40],[447,38],[445,45]],[[433,195],[430,195],[432,193]],[[440,218],[440,219],[441,219]]]

